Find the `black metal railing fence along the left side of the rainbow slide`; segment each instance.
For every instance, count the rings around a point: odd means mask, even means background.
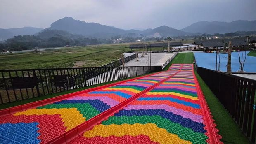
[[[0,104],[161,71],[161,66],[0,70]]]

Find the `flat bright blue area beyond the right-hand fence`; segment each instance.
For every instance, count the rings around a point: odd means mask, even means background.
[[[249,53],[249,51],[247,51]],[[194,53],[196,58],[197,65],[199,67],[208,68],[211,70],[215,70],[215,60],[216,60],[216,53]],[[242,56],[242,53],[240,53]],[[220,54],[220,70],[223,72],[227,71],[227,57],[228,54]],[[238,52],[232,52],[231,56],[231,68],[232,72],[237,72],[239,70],[240,64],[238,61]],[[256,57],[254,56],[247,56],[245,64],[244,64],[244,71],[246,72],[256,72]]]

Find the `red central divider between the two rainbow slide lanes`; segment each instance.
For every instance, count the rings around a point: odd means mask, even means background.
[[[176,72],[175,74],[177,74]],[[175,74],[172,74],[171,76],[167,77],[166,79],[163,79],[159,81],[157,84],[154,84],[153,86],[150,86],[149,88],[146,88],[144,91],[141,91],[140,93],[137,93],[136,95],[133,95],[132,97],[124,100],[123,102],[120,102],[118,105],[111,107],[107,109],[106,111],[103,111],[102,113],[98,114],[97,116],[94,116],[93,118],[89,119],[88,121],[85,121],[84,123],[81,123],[80,125],[76,126],[75,128],[72,128],[71,130],[65,132],[63,135],[59,135],[55,139],[50,140],[47,142],[47,144],[66,144],[70,142],[75,137],[82,135],[85,131],[92,129],[95,125],[100,124],[102,121],[106,120],[110,116],[113,116],[116,112],[123,109],[123,107],[126,107],[128,104],[139,98],[141,95],[147,93],[148,91],[151,91],[156,86],[159,86],[159,84],[163,83],[167,79],[170,79]]]

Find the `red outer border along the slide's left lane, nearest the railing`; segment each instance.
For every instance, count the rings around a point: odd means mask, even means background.
[[[160,72],[156,72],[156,73],[153,73],[153,74],[158,74],[158,73],[160,73]],[[141,76],[141,77],[126,79],[124,81],[118,81],[118,82],[111,83],[111,84],[106,84],[106,85],[103,85],[103,86],[97,86],[95,88],[88,88],[86,90],[77,91],[77,92],[73,92],[73,93],[68,93],[68,94],[64,94],[64,95],[59,95],[59,96],[56,96],[56,97],[53,97],[53,98],[47,98],[45,100],[39,100],[39,101],[36,101],[36,102],[30,102],[30,103],[27,103],[27,104],[24,104],[24,105],[18,105],[18,106],[15,106],[15,107],[9,107],[9,108],[6,108],[6,109],[1,109],[0,110],[0,117],[1,116],[7,116],[7,115],[10,115],[10,114],[14,114],[14,113],[20,112],[20,111],[25,111],[27,109],[36,108],[36,107],[40,107],[40,106],[47,105],[47,104],[52,104],[54,102],[58,102],[58,101],[66,99],[66,98],[77,96],[81,93],[88,93],[88,92],[95,91],[95,90],[98,90],[98,89],[101,89],[101,88],[106,88],[106,87],[109,87],[109,86],[114,86],[114,85],[117,85],[117,84],[121,84],[121,83],[124,83],[124,82],[127,82],[127,81],[133,81],[135,79],[148,77],[148,76],[151,76],[153,74],[147,74],[147,75]]]

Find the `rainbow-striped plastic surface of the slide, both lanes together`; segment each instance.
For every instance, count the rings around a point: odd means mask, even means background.
[[[165,72],[1,116],[0,143],[47,143],[143,91],[147,93],[70,143],[206,143],[205,109],[193,74],[191,64],[173,64]]]

